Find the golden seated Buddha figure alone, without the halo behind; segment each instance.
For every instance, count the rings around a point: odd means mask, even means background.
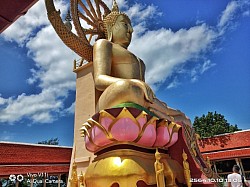
[[[159,101],[144,82],[144,62],[127,50],[133,33],[131,21],[119,11],[115,1],[103,22],[106,39],[97,40],[93,47],[95,86],[103,92],[96,110],[129,102],[143,106],[160,118],[191,125],[184,113]]]

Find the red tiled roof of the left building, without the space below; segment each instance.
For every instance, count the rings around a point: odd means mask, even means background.
[[[71,147],[0,141],[0,176],[68,173]]]

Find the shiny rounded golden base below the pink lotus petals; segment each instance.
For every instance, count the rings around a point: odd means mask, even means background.
[[[161,154],[167,186],[184,183],[183,168],[167,154]],[[85,173],[87,187],[156,186],[154,154],[131,149],[109,151],[96,157]],[[118,185],[117,185],[118,184]]]

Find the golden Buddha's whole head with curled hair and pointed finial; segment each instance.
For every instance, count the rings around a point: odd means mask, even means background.
[[[119,11],[116,1],[110,14],[104,18],[105,37],[109,41],[127,48],[132,38],[133,28],[129,17]]]

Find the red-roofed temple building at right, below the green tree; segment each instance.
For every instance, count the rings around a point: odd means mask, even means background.
[[[222,177],[232,172],[233,165],[250,180],[250,130],[222,134],[199,141],[203,157],[210,159],[213,170]]]

